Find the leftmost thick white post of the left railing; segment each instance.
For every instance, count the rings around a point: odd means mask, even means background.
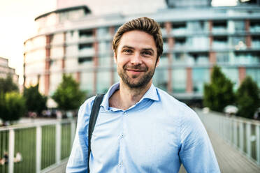
[[[8,173],[13,173],[14,164],[13,157],[15,156],[15,130],[9,130],[9,151],[8,151]]]

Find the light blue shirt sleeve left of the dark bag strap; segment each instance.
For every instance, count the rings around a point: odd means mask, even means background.
[[[88,164],[88,128],[89,116],[94,98],[89,98],[78,111],[78,123],[71,155],[68,158],[66,172],[87,172]]]

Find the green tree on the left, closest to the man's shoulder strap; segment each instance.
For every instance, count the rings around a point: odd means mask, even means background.
[[[75,110],[80,107],[86,94],[80,91],[79,84],[73,80],[71,75],[63,75],[62,83],[59,84],[52,99],[61,110]]]

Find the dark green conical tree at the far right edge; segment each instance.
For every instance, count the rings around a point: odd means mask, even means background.
[[[260,107],[259,88],[251,77],[245,77],[242,84],[236,91],[236,104],[238,116],[252,119],[254,112]]]

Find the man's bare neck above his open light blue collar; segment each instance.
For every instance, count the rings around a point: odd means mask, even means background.
[[[115,91],[109,99],[110,107],[127,110],[132,105],[138,103],[148,89],[150,89],[151,85],[152,80],[143,87],[130,88],[120,79],[120,89]]]

